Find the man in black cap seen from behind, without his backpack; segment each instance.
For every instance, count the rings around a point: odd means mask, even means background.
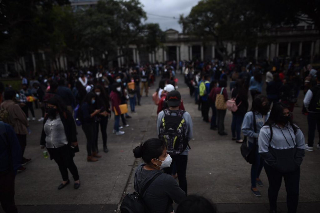
[[[171,115],[177,116],[177,112],[178,112],[179,107],[181,105],[180,93],[176,90],[169,92],[167,95],[167,104],[169,106],[169,110],[171,112]],[[176,113],[174,113],[174,112],[176,112]],[[158,115],[158,120],[157,120],[158,134],[160,132],[160,125],[161,125],[161,121],[164,118],[164,116],[165,116],[164,111],[161,111]],[[186,131],[188,133],[188,141],[190,141],[192,138],[192,119],[191,119],[191,116],[188,112],[184,112],[182,115],[182,118],[184,119],[184,121],[186,123],[186,126],[187,126]],[[169,168],[164,168],[164,172],[171,175],[173,164],[176,164],[178,179],[179,179],[179,186],[183,191],[185,191],[186,195],[188,194],[186,171],[187,171],[189,150],[190,150],[189,147],[187,147],[180,155],[172,155],[171,156],[172,164],[170,165]]]

